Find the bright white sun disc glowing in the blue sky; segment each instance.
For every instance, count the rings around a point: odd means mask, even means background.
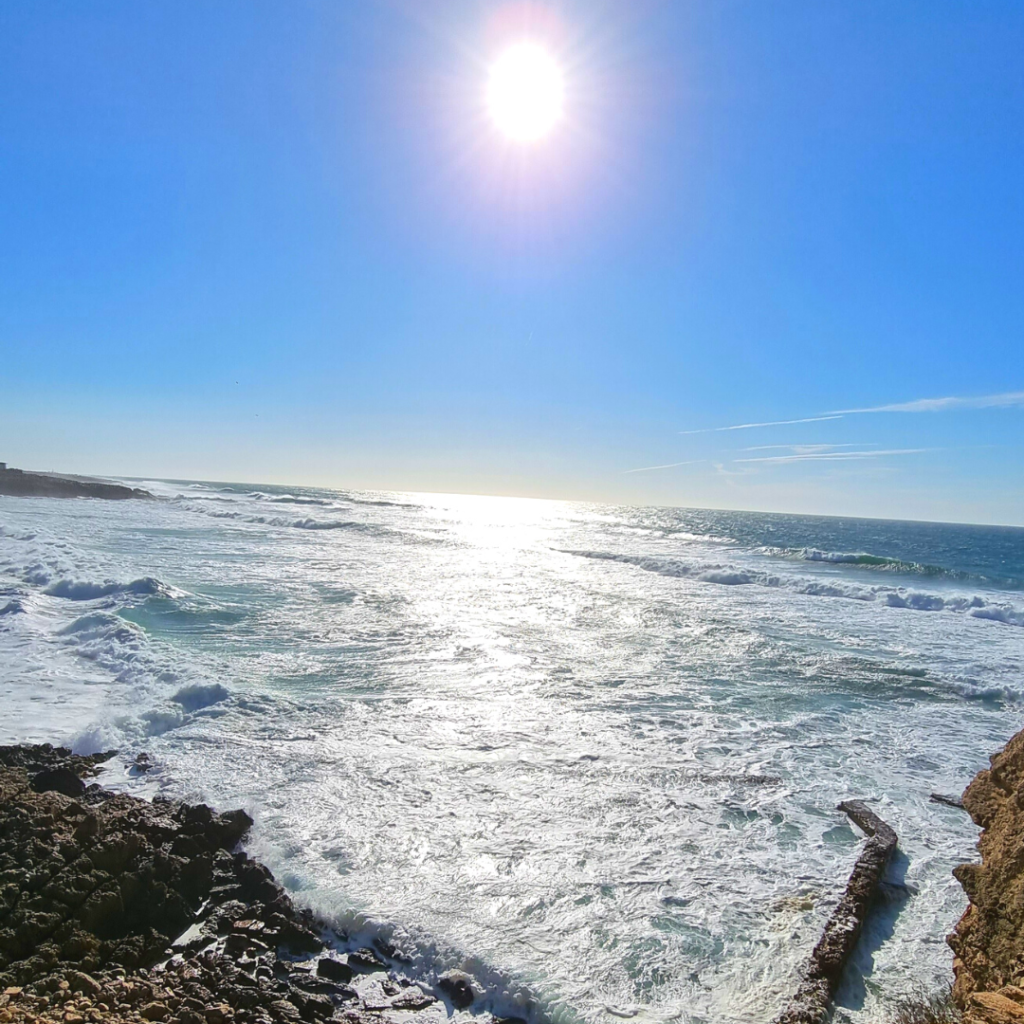
[[[561,120],[564,92],[561,69],[551,54],[537,43],[516,43],[490,68],[487,109],[510,139],[536,142]]]

